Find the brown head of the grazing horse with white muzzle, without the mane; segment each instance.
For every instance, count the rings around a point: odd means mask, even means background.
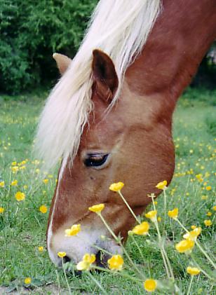
[[[69,62],[62,57],[56,60],[60,69]],[[130,90],[126,78],[117,104],[109,109],[119,81],[114,63],[101,50],[93,50],[92,74],[94,109],[73,164],[69,158],[62,163],[50,208],[48,250],[57,264],[62,251],[75,262],[86,253],[97,254],[100,248],[112,254],[121,252],[100,217],[88,207],[104,203],[104,219],[126,240],[135,219],[109,185],[116,181],[126,184],[123,194],[138,215],[151,201],[148,194],[158,195],[156,184],[170,181],[174,170],[170,123],[161,122],[161,97],[152,97],[149,107],[149,97]],[[65,236],[65,230],[74,224],[81,224],[81,231]]]

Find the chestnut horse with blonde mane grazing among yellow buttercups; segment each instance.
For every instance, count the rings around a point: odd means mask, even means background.
[[[47,231],[54,263],[60,251],[75,263],[97,247],[121,252],[88,207],[104,203],[104,219],[126,240],[135,220],[109,185],[125,183],[138,215],[161,192],[156,184],[170,183],[175,104],[215,37],[215,0],[101,0],[74,60],[53,56],[62,78],[37,142],[48,167],[62,157]],[[73,224],[80,233],[65,237]]]

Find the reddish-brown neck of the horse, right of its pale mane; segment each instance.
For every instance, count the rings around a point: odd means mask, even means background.
[[[215,37],[215,0],[164,0],[141,55],[126,71],[130,90],[160,94],[173,113]]]

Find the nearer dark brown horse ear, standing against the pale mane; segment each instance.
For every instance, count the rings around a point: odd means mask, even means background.
[[[118,88],[119,80],[112,59],[101,50],[93,50],[93,79],[95,91],[106,102],[110,102]]]

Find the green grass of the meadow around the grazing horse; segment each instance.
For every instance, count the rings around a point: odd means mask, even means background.
[[[211,257],[215,256],[215,211],[212,210],[215,205],[215,104],[215,92],[205,90],[189,89],[180,99],[173,127],[176,169],[167,190],[168,210],[178,207],[179,219],[187,229],[191,225],[201,226],[202,233],[198,240]],[[39,211],[41,205],[50,206],[56,178],[56,173],[43,174],[39,171],[39,163],[32,156],[33,135],[42,105],[41,94],[0,97],[0,184],[1,181],[5,182],[4,187],[0,187],[0,207],[5,208],[4,213],[0,214],[0,294],[20,290],[23,286],[28,288],[21,290],[29,290],[31,294],[57,294],[59,290],[67,294],[64,273],[50,262],[46,251],[48,212],[43,214]],[[11,163],[19,167],[18,172],[11,171]],[[202,174],[203,181],[198,181],[197,174]],[[43,183],[43,179],[48,179],[48,182]],[[18,180],[17,186],[10,185],[13,180]],[[207,191],[206,186],[211,186],[211,190]],[[26,196],[20,203],[15,200],[17,191],[22,191]],[[157,202],[162,228],[162,195]],[[152,206],[149,206],[149,210],[152,210]],[[212,216],[208,217],[208,212]],[[212,226],[205,226],[205,219],[210,219]],[[166,285],[166,272],[152,224],[149,233],[150,237],[135,236],[144,261],[132,238],[128,239],[126,249],[137,268],[147,277],[165,282]],[[182,294],[187,294],[190,276],[186,268],[193,261],[190,256],[178,253],[174,247],[182,240],[183,234],[177,222],[166,217],[166,251],[177,284]],[[43,252],[39,252],[39,246],[44,247]],[[214,276],[210,263],[197,247],[193,254],[199,265]],[[127,259],[124,259],[128,266]],[[136,277],[132,269],[125,271]],[[93,276],[108,294],[146,294],[142,284],[119,274],[93,273]],[[32,278],[30,286],[24,284],[25,277]],[[81,277],[68,275],[67,280],[72,294],[101,292],[88,273],[83,273]],[[203,273],[194,277],[191,294],[215,292],[212,280],[208,280]],[[164,289],[156,294],[168,294],[168,291]]]

